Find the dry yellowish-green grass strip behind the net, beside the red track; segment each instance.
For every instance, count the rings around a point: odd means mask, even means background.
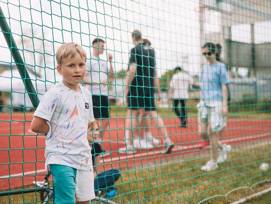
[[[248,149],[242,149],[248,148]],[[154,162],[142,163],[121,169],[121,179],[117,182],[117,203],[198,203],[218,194],[205,203],[230,203],[262,190],[271,180],[271,171],[262,172],[262,162],[270,163],[271,145],[253,147],[250,144],[235,147],[227,161],[213,172],[203,172],[200,167],[208,160],[208,151],[174,155],[163,160],[159,156]],[[253,186],[234,190],[239,187]],[[39,194],[29,193],[10,196],[10,203],[33,203]],[[0,197],[0,203],[9,203],[9,197]],[[258,202],[259,203],[259,202]]]

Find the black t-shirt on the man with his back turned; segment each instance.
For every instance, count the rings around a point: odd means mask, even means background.
[[[130,95],[151,96],[154,92],[155,51],[143,44],[131,49],[129,64],[137,64],[135,77],[130,85]]]

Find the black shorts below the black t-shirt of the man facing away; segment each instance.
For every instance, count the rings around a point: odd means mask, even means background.
[[[127,96],[128,108],[145,110],[156,110],[155,99],[153,96]]]

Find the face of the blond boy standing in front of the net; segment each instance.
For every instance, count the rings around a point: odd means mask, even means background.
[[[62,65],[57,66],[57,71],[62,75],[63,83],[70,89],[78,87],[86,72],[85,58],[76,54],[74,58],[68,56],[63,60]]]

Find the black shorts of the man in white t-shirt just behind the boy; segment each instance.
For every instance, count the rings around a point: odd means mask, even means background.
[[[109,118],[108,96],[92,95],[93,114],[95,119]]]

